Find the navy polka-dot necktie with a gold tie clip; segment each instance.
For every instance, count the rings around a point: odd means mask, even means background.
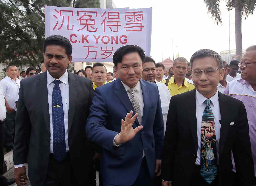
[[[64,111],[60,91],[60,80],[54,80],[52,91],[53,153],[59,162],[66,158]]]

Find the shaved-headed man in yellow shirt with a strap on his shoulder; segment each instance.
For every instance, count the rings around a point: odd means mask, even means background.
[[[178,57],[174,60],[173,67],[171,68],[173,71],[173,77],[161,81],[161,83],[167,85],[171,96],[188,92],[195,88],[193,81],[185,78],[185,75],[189,70],[188,61],[186,58]]]

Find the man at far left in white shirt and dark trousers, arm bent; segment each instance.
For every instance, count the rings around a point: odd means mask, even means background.
[[[6,68],[7,76],[0,81],[6,107],[5,148],[7,151],[13,149],[14,142],[15,116],[17,110],[15,96],[20,84],[20,80],[17,78],[17,71],[15,65],[8,65]]]

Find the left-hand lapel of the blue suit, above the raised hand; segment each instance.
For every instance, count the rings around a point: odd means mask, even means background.
[[[132,103],[128,97],[127,92],[125,91],[125,88],[121,82],[120,79],[116,80],[116,85],[115,85],[115,89],[116,89],[116,96],[119,98],[119,100],[121,101],[121,103],[123,104],[123,106],[125,107],[125,109],[127,110],[127,112],[129,113],[131,110],[133,111],[133,115],[135,114],[135,111],[132,107]],[[137,125],[139,125],[138,120],[136,119],[135,122],[137,123]]]

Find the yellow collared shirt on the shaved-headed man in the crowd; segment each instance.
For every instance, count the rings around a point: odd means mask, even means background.
[[[166,79],[161,81],[161,83],[165,84]],[[174,76],[169,79],[168,86],[167,86],[171,96],[174,96],[176,94],[181,94],[184,92],[188,92],[190,90],[193,90],[195,88],[195,85],[192,83],[189,83],[186,78],[184,78],[184,83],[180,86],[177,85],[177,83],[174,81]]]

